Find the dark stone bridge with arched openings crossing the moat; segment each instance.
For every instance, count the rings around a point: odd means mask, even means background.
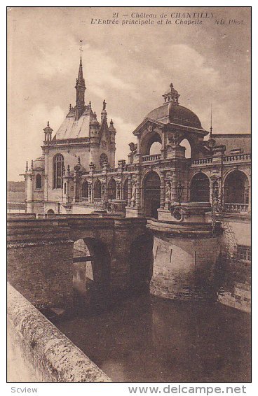
[[[8,218],[8,281],[38,307],[72,305],[74,242],[90,250],[95,296],[149,288],[153,236],[144,218],[33,215]]]

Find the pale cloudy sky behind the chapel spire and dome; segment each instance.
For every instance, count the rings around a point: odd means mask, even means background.
[[[175,24],[189,18],[171,18],[172,12],[213,17],[199,18],[202,24]],[[149,20],[132,13],[157,17],[154,24],[122,25],[123,20]],[[118,24],[92,24],[92,18],[118,19]],[[22,181],[26,161],[41,155],[47,121],[55,134],[69,104],[74,106],[80,40],[86,104],[91,101],[100,120],[102,101],[107,101],[108,120],[114,120],[117,131],[116,161],[127,160],[128,143],[136,141],[133,130],[163,104],[171,82],[180,104],[194,111],[205,129],[212,104],[215,134],[250,133],[249,8],[9,8],[9,181]]]

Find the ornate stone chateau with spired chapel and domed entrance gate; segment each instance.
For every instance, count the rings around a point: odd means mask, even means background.
[[[48,122],[43,155],[26,167],[27,213],[147,219],[152,240],[144,236],[128,251],[136,264],[145,262],[143,283],[151,292],[167,298],[203,296],[208,272],[223,267],[238,276],[231,277],[231,289],[224,283],[223,290],[220,282],[218,298],[248,311],[250,134],[206,131],[198,116],[179,104],[171,83],[160,106],[133,131],[137,143],[129,144],[128,160],[118,160],[116,167],[115,120],[108,120],[106,101],[99,120],[85,103],[82,61],[75,89],[75,106],[69,106],[55,134]],[[136,265],[128,263],[123,271]],[[132,268],[130,285],[140,282]]]

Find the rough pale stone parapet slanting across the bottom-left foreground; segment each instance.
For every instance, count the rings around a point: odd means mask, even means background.
[[[25,297],[8,285],[8,381],[111,380]]]

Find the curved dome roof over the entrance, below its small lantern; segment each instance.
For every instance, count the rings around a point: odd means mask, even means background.
[[[147,118],[163,122],[164,124],[172,123],[184,125],[185,127],[203,129],[201,121],[193,111],[171,101],[163,104],[163,106],[154,108],[154,110],[147,114]]]

